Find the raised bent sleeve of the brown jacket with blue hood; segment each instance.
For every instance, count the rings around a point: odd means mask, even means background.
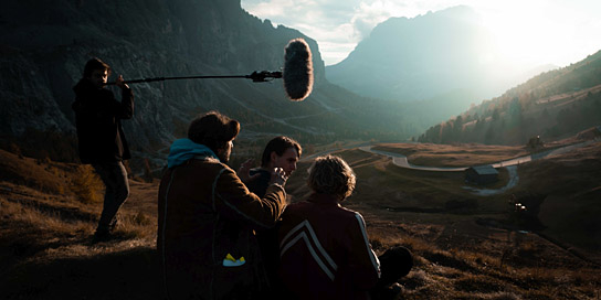
[[[230,168],[224,168],[213,182],[213,208],[232,221],[247,223],[256,229],[272,228],[286,205],[281,185],[270,185],[263,199],[251,193]]]

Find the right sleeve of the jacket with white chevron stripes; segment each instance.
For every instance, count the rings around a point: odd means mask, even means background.
[[[380,261],[371,249],[363,217],[355,213],[355,219],[349,225],[350,253],[349,271],[355,287],[369,289],[380,278]]]

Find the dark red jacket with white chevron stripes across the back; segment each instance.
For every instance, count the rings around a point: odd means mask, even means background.
[[[282,215],[280,275],[296,299],[369,299],[380,276],[363,217],[312,194]]]

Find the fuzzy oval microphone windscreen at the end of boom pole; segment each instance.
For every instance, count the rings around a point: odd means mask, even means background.
[[[282,74],[284,89],[293,101],[302,101],[313,89],[313,60],[310,49],[303,39],[288,42]]]

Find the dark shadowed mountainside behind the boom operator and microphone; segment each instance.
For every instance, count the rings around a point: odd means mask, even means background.
[[[280,79],[133,84],[136,111],[124,128],[134,157],[160,165],[189,121],[212,109],[240,120],[240,139],[251,143],[275,135],[306,143],[412,135],[399,118],[400,107],[388,109],[387,101],[329,84],[314,40],[249,14],[240,0],[25,0],[0,4],[0,146],[76,160],[72,87],[91,57],[112,66],[109,81],[118,74],[126,79],[247,75],[282,68],[284,47],[296,38],[308,42],[315,73],[314,92],[302,103],[286,98]]]

